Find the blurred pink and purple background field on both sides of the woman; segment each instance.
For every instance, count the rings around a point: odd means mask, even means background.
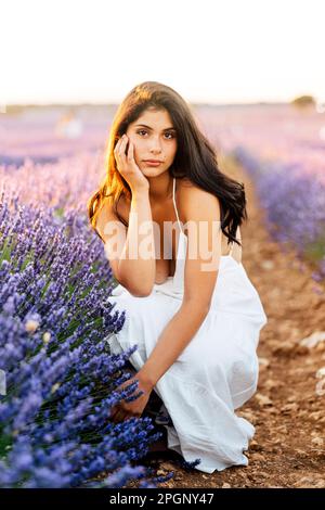
[[[299,98],[301,100],[301,98]],[[275,104],[193,104],[220,158],[255,180],[270,233],[325,276],[325,107],[313,98]],[[12,107],[0,117],[0,176],[22,202],[80,211],[105,175],[116,105]],[[49,186],[51,183],[51,186]]]

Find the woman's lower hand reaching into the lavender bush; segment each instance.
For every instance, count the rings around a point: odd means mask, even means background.
[[[153,386],[151,384],[145,383],[144,381],[142,381],[141,378],[135,374],[133,378],[128,379],[128,381],[125,381],[122,384],[120,384],[117,387],[117,390],[121,391],[126,386],[129,386],[131,383],[133,383],[136,380],[139,380],[139,385],[134,390],[134,392],[129,396],[134,396],[140,391],[144,392],[143,395],[141,395],[140,397],[138,397],[135,400],[132,400],[132,401],[126,401],[125,399],[122,399],[118,404],[113,406],[110,408],[109,419],[114,423],[126,421],[126,420],[128,420],[129,418],[132,418],[132,417],[136,417],[136,418],[141,417],[141,415],[142,415],[142,412],[143,412],[143,410],[144,410],[144,408],[145,408],[145,406],[146,406],[146,404],[150,399],[151,393],[153,391]]]

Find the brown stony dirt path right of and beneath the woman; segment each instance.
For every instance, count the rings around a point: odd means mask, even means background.
[[[269,318],[258,348],[258,391],[237,410],[256,426],[249,464],[212,474],[186,472],[169,452],[146,463],[159,466],[159,474],[176,472],[161,487],[325,487],[325,395],[317,394],[315,375],[325,367],[325,342],[312,348],[299,344],[325,331],[324,292],[313,291],[311,268],[301,269],[294,254],[284,255],[270,240],[248,176],[231,161],[221,167],[245,182],[249,221],[240,229],[243,264]]]

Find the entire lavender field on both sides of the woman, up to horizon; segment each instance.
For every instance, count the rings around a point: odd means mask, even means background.
[[[217,153],[251,177],[270,235],[323,283],[325,113],[289,105],[195,112]],[[106,302],[115,282],[87,201],[105,170],[113,114],[0,114],[0,487],[164,481],[141,466],[157,438],[152,420],[107,418],[125,396],[117,387],[130,377],[121,368],[131,352],[107,349],[125,313]]]

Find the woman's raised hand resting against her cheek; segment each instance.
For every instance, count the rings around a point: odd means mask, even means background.
[[[126,153],[127,143],[129,141],[129,149]],[[148,180],[144,177],[141,169],[134,160],[134,145],[127,135],[123,135],[117,142],[114,149],[114,155],[117,163],[117,169],[120,175],[126,179],[131,190],[138,191],[148,189]]]

